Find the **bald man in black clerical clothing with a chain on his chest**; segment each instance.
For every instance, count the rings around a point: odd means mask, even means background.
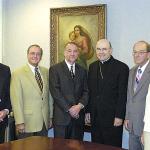
[[[128,66],[113,58],[108,40],[96,45],[98,60],[89,67],[89,111],[92,141],[121,147]]]

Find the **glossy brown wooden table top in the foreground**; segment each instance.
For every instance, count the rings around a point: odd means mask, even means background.
[[[123,150],[121,148],[77,140],[29,137],[0,144],[0,150]]]

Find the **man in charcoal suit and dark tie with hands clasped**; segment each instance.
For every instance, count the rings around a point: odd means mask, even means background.
[[[87,73],[75,61],[78,48],[67,43],[65,60],[50,68],[50,91],[54,99],[54,137],[83,139],[84,107],[88,101]]]

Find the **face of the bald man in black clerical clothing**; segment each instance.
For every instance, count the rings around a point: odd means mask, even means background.
[[[96,55],[100,61],[107,60],[112,54],[112,49],[107,40],[100,40],[96,45]]]

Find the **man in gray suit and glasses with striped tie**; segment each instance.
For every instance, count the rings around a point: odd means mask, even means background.
[[[145,101],[150,84],[150,48],[145,41],[135,43],[133,57],[136,66],[130,70],[125,127],[129,130],[129,150],[142,150]]]

